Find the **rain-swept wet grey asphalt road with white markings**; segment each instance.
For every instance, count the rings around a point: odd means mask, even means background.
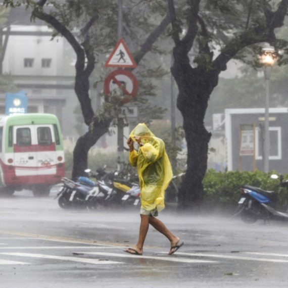
[[[138,210],[62,210],[30,191],[0,198],[0,287],[287,287],[288,223],[160,213],[184,246],[150,228],[143,257]]]

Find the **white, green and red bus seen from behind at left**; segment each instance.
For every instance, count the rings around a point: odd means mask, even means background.
[[[0,119],[0,193],[32,190],[47,196],[65,175],[61,128],[53,114],[21,114]]]

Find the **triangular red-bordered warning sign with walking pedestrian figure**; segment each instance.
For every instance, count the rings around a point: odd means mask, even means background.
[[[131,56],[124,40],[121,38],[116,44],[113,52],[106,61],[105,67],[129,67],[136,68],[133,57]]]

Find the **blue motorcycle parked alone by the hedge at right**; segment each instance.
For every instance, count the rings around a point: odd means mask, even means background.
[[[273,174],[271,178],[277,179],[278,176]],[[283,182],[282,175],[278,186],[288,188],[288,180]],[[240,214],[243,222],[252,224],[258,219],[288,220],[288,209],[285,212],[276,210],[278,197],[274,191],[245,185],[241,188],[241,193],[242,198],[238,202],[235,215]]]

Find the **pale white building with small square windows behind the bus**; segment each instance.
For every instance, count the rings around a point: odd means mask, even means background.
[[[2,29],[2,73],[11,74],[19,91],[25,91],[28,112],[57,115],[63,133],[70,135],[74,117],[69,113],[78,103],[74,92],[75,53],[65,38],[52,40],[52,30],[39,20],[30,22],[30,16],[25,7],[11,9],[8,25]],[[0,95],[0,114],[4,113],[5,95]]]

